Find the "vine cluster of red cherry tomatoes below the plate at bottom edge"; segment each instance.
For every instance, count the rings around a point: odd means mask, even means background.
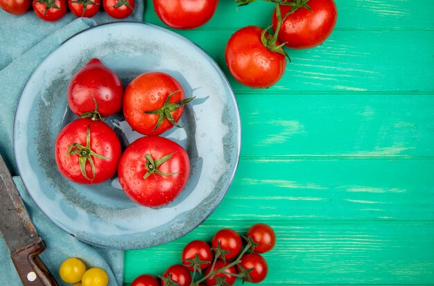
[[[131,286],[234,285],[236,278],[260,283],[268,274],[268,265],[259,253],[275,246],[275,231],[268,224],[254,224],[243,238],[244,248],[241,235],[232,229],[220,229],[211,244],[193,240],[182,251],[182,265],[168,267],[160,281],[149,274],[138,276]]]

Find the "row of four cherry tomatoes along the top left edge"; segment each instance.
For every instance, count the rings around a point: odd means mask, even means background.
[[[123,19],[134,11],[134,0],[102,0],[107,15]],[[101,0],[0,0],[0,8],[21,15],[33,7],[35,15],[44,21],[58,21],[69,10],[77,17],[94,17],[101,8]]]

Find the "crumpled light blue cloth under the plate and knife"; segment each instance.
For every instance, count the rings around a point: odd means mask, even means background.
[[[142,21],[144,1],[136,1],[129,21]],[[15,110],[19,96],[33,70],[62,42],[72,35],[96,26],[116,21],[100,10],[92,19],[76,18],[71,12],[56,22],[42,21],[30,10],[21,16],[10,15],[0,9],[0,154],[12,175],[18,175],[13,152],[12,134]],[[83,259],[88,267],[101,267],[110,276],[110,286],[122,285],[123,251],[101,249],[80,242],[55,226],[35,206],[19,177],[14,177],[38,233],[46,242],[47,249],[42,260],[51,270],[60,285],[58,269],[69,257]],[[21,285],[10,255],[0,239],[0,285]]]

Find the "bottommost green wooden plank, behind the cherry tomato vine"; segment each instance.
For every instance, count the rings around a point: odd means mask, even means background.
[[[225,227],[245,233],[258,221],[208,220],[175,242],[126,251],[125,282],[145,273],[161,275],[180,263],[180,253],[191,240],[209,241]],[[277,244],[263,255],[269,276],[261,285],[432,285],[434,281],[434,222],[267,222],[277,233]]]

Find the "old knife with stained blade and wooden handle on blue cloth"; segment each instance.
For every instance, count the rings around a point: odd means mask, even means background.
[[[58,286],[39,254],[45,244],[37,235],[12,176],[0,156],[0,233],[24,286]]]

